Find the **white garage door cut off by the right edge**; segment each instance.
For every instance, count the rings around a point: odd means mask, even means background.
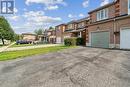
[[[130,28],[121,30],[120,48],[130,49]]]

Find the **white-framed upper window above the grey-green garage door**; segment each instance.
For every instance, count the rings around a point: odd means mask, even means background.
[[[103,9],[97,12],[97,21],[108,18],[108,9]]]

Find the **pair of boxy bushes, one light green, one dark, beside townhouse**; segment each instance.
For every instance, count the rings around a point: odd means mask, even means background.
[[[84,40],[83,40],[83,38],[76,38],[76,37],[66,38],[66,39],[64,39],[64,44],[66,46],[83,45]]]

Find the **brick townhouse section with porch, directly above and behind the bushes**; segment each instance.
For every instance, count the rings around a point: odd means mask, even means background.
[[[81,37],[84,39],[84,45],[86,44],[86,29],[89,23],[89,18],[85,17],[80,20],[72,21],[67,24],[66,32],[72,33],[71,37]]]

